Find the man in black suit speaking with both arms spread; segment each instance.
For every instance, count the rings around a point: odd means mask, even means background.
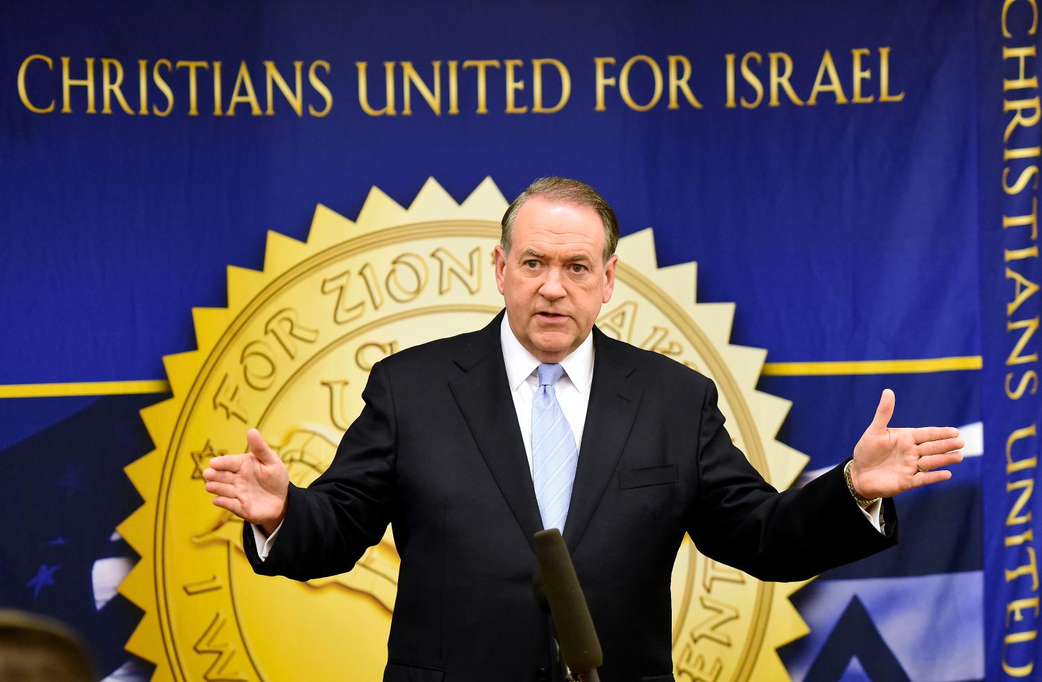
[[[810,578],[896,542],[890,498],[961,460],[953,428],[887,428],[888,389],[851,460],[778,494],[733,446],[712,381],[594,327],[617,241],[591,187],[537,180],[495,250],[505,311],[377,363],[315,483],[291,485],[255,430],[250,452],[203,472],[214,504],[252,524],[245,548],[265,575],[346,572],[392,524],[401,571],[384,680],[545,677],[550,629],[531,595],[544,527],[572,553],[601,679],[671,679],[686,532],[761,579]]]

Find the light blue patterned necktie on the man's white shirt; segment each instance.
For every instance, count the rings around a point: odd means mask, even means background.
[[[553,384],[564,373],[560,364],[540,364],[539,388],[531,403],[531,478],[536,501],[543,528],[556,528],[562,533],[579,461],[575,435],[553,390]]]

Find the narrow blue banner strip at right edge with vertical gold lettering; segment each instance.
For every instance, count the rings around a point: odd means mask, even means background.
[[[1039,675],[1038,8],[996,6],[982,62],[981,320],[989,679]],[[1001,154],[998,141],[1001,140]],[[999,162],[1001,158],[1001,162]]]

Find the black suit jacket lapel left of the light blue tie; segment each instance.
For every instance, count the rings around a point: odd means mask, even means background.
[[[502,314],[478,333],[475,348],[455,360],[465,374],[449,381],[449,387],[492,477],[531,545],[531,536],[543,530],[543,522],[517,410],[506,383],[499,345]]]

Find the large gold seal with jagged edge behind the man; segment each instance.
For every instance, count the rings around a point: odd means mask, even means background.
[[[347,574],[253,574],[242,523],[201,471],[256,427],[298,485],[328,466],[372,365],[475,330],[502,307],[491,252],[506,200],[491,179],[457,204],[428,180],[402,208],[376,188],[356,221],[319,206],[306,243],[270,232],[262,272],[228,269],[228,307],[193,310],[198,350],[165,358],[171,400],[142,411],[156,449],[127,468],[145,500],[119,528],[141,555],[120,590],[145,611],[127,649],[160,680],[377,680],[399,558],[390,529]],[[713,378],[736,443],[776,487],[805,457],[774,440],[789,403],[754,389],[766,352],[727,343],[731,304],[695,302],[695,264],[656,268],[650,230],[623,238],[607,334]],[[702,557],[673,572],[678,680],[784,679],[775,648],[805,633],[788,597]]]

